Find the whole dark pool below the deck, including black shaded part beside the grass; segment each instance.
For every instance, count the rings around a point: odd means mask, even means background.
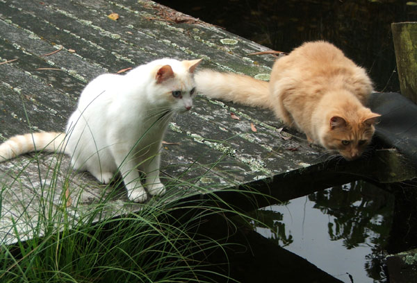
[[[198,220],[195,237],[224,245],[202,260],[236,282],[385,283],[393,203],[379,187],[352,182],[248,213],[257,221],[213,214]]]

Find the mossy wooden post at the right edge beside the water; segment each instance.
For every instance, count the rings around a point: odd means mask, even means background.
[[[401,94],[417,103],[417,22],[391,24]]]

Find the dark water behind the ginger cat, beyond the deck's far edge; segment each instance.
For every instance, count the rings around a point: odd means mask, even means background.
[[[399,91],[391,23],[417,21],[417,1],[157,0],[277,51],[327,40],[368,69],[377,91]]]

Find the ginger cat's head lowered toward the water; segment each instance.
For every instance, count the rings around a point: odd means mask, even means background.
[[[357,159],[370,144],[378,117],[379,114],[370,111],[359,114],[353,121],[332,116],[323,139],[325,148],[338,151],[346,160]]]

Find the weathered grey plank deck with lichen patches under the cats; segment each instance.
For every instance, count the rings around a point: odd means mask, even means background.
[[[120,19],[108,19],[111,12]],[[202,67],[250,76],[270,72],[273,56],[247,55],[266,51],[264,46],[197,19],[175,23],[164,16],[169,12],[152,1],[0,0],[0,141],[31,130],[64,130],[88,81],[157,58],[204,58]],[[240,120],[231,119],[231,112]],[[368,162],[328,162],[322,148],[282,130],[268,110],[204,97],[171,122],[165,141],[174,144],[163,145],[161,176],[172,198],[247,189],[245,184],[273,194],[284,188],[281,182],[288,187],[293,180],[300,185],[288,189],[300,195],[310,182],[299,182],[305,173],[324,189],[345,182],[335,177],[338,170],[359,178],[355,170],[364,166],[357,164]],[[70,157],[41,153],[1,163],[0,182],[2,243],[16,241],[13,223],[22,223],[17,227],[23,239],[31,237],[28,223],[47,215],[38,215],[41,205],[49,214],[66,209],[74,224],[103,200],[108,216],[141,206],[129,203],[120,180],[106,186],[89,173],[72,172]]]

